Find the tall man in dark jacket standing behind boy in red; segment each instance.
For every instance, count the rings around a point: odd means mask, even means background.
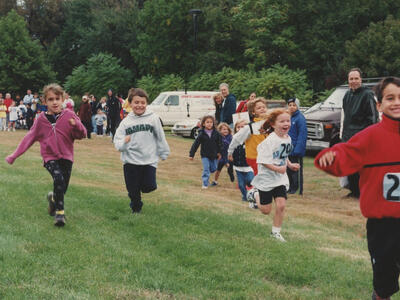
[[[353,68],[348,73],[349,90],[343,97],[340,136],[347,142],[353,135],[378,122],[378,111],[373,92],[362,85],[361,70]],[[359,198],[358,173],[348,176],[348,197]]]

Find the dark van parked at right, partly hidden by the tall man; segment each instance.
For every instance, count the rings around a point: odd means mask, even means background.
[[[372,88],[380,78],[365,78],[363,85]],[[342,101],[349,90],[347,84],[337,87],[323,102],[311,106],[303,114],[307,121],[307,150],[322,150],[340,142]]]

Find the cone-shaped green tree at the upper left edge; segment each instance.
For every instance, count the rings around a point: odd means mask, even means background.
[[[54,80],[42,47],[29,36],[24,19],[15,10],[0,19],[0,36],[0,90],[39,90]]]

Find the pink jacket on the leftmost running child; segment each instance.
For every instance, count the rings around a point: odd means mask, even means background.
[[[75,120],[75,126],[69,123],[71,118]],[[36,141],[40,143],[40,154],[44,162],[62,158],[74,161],[74,140],[84,137],[86,137],[86,129],[71,110],[65,109],[61,112],[54,128],[42,112],[18,145],[17,150],[6,157],[6,161],[12,164]]]

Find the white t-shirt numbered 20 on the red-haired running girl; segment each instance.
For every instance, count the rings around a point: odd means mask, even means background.
[[[292,140],[289,135],[281,138],[272,132],[264,141],[257,146],[258,174],[254,177],[251,184],[261,191],[270,191],[273,188],[284,185],[289,189],[289,179],[287,174],[281,174],[263,164],[283,166],[289,153],[292,152]]]

